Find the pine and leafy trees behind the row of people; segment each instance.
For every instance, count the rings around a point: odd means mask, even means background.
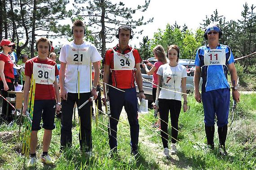
[[[17,44],[19,59],[24,53],[30,57],[36,55],[35,41],[40,36],[71,41],[71,24],[68,23],[75,19],[85,22],[84,39],[94,43],[102,57],[106,44],[113,43],[119,26],[129,25],[138,30],[154,21],[154,13],[147,19],[141,15],[148,9],[150,0],[138,1],[140,4],[134,4],[132,8],[117,0],[0,0],[0,3],[0,39],[9,38]],[[147,59],[153,56],[155,45],[161,44],[166,49],[170,44],[177,44],[181,48],[182,59],[194,59],[196,49],[206,43],[203,39],[205,27],[211,23],[218,24],[224,33],[220,43],[229,45],[235,58],[249,55],[236,62],[240,84],[246,89],[256,89],[255,10],[255,4],[245,2],[240,11],[241,17],[227,21],[216,9],[210,16],[206,15],[195,30],[186,24],[180,26],[178,17],[175,23],[167,20],[165,29],[158,29],[153,36],[144,36],[136,48],[141,58]],[[134,32],[134,37],[142,32]],[[54,46],[58,53],[62,43]]]

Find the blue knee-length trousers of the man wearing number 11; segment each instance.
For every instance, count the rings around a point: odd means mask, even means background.
[[[228,124],[230,110],[230,89],[216,89],[202,93],[204,123],[206,126],[214,126],[215,114],[217,126]]]

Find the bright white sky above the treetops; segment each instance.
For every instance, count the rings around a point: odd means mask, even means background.
[[[120,0],[110,0],[113,3],[118,3]],[[121,0],[127,7],[137,7],[138,4],[143,5],[145,0]],[[241,19],[241,12],[243,11],[243,5],[247,2],[249,8],[254,4],[255,0],[151,0],[150,5],[146,12],[136,13],[136,17],[145,18],[145,21],[154,17],[154,21],[146,26],[140,26],[134,32],[143,30],[142,34],[135,34],[129,42],[134,47],[139,47],[139,43],[142,42],[144,36],[152,38],[154,32],[158,29],[164,30],[169,23],[173,25],[175,21],[179,26],[186,24],[188,29],[196,30],[199,28],[200,23],[206,16],[210,17],[217,9],[219,16],[223,15],[226,21]],[[72,5],[67,5],[67,9]],[[54,41],[53,41],[54,43]],[[115,38],[113,43],[106,44],[107,48],[113,47],[118,43],[118,39]],[[54,45],[54,44],[53,44]]]

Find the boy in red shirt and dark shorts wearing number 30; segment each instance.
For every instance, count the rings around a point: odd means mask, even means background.
[[[29,167],[35,167],[37,132],[41,129],[40,122],[43,119],[44,137],[43,153],[40,157],[41,162],[53,164],[53,160],[48,155],[48,149],[52,138],[52,130],[55,128],[55,110],[60,110],[59,89],[57,84],[57,64],[48,58],[50,51],[50,41],[47,38],[40,38],[36,41],[35,47],[38,56],[29,59],[25,65],[25,85],[24,85],[24,107],[23,115],[26,115],[28,108],[28,94],[31,84],[31,77],[35,80],[35,101],[32,117],[32,132],[30,142],[31,158],[28,162]],[[55,97],[56,96],[56,97]],[[57,100],[57,101],[56,101]]]

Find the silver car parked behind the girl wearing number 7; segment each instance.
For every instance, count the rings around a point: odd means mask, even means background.
[[[151,57],[147,59],[148,62],[151,64],[154,64],[157,62],[157,59],[154,57]],[[179,59],[178,63],[184,65],[187,68],[187,79],[186,79],[186,89],[187,93],[193,93],[194,92],[194,70],[195,70],[195,60],[190,60],[190,59]],[[148,66],[150,69],[151,67]],[[142,75],[142,86],[144,90],[144,94],[146,96],[146,99],[149,100],[149,103],[151,104],[153,102],[153,97],[152,97],[152,81],[153,81],[153,75],[148,76],[146,73],[145,68],[141,68],[141,75]],[[150,82],[151,83],[150,83]],[[199,82],[199,89],[201,90],[202,87],[202,78]],[[136,90],[138,93],[138,88],[136,85]]]

